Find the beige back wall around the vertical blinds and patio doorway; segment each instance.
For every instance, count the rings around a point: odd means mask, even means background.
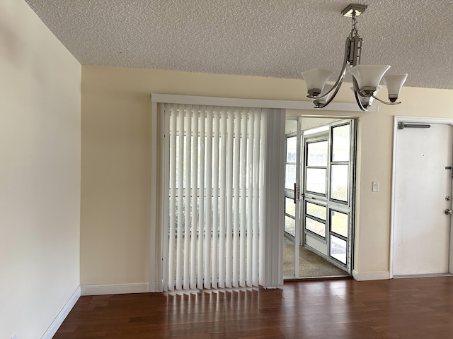
[[[349,87],[336,101],[352,102]],[[304,100],[304,92],[299,80],[83,66],[81,284],[148,281],[150,93]],[[359,273],[389,270],[393,116],[452,117],[452,99],[453,90],[403,88],[403,105],[380,112],[289,112],[360,118]]]

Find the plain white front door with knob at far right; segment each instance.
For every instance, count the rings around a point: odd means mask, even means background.
[[[393,275],[449,272],[453,127],[428,126],[396,132]]]

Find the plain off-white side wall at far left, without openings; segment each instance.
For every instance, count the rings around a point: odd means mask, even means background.
[[[0,338],[41,336],[79,287],[81,66],[0,0]]]

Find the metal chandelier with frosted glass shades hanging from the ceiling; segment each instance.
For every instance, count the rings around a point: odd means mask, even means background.
[[[372,105],[373,99],[386,105],[401,104],[401,102],[397,102],[396,100],[398,99],[403,83],[406,81],[407,74],[384,76],[390,68],[389,65],[360,64],[363,39],[357,31],[357,16],[365,12],[366,8],[367,5],[350,4],[341,11],[343,16],[352,18],[352,29],[346,38],[345,59],[336,83],[333,85],[326,83],[328,78],[333,74],[333,71],[328,69],[311,69],[310,71],[301,73],[306,83],[307,97],[313,100],[314,108],[323,108],[331,103],[343,83],[348,66],[351,68],[350,73],[352,73],[353,87],[351,90],[354,92],[357,105],[359,105],[362,111],[366,111]],[[382,88],[379,85],[382,77],[384,77],[384,85],[386,85],[387,92],[389,93],[389,102],[376,97],[377,92]]]

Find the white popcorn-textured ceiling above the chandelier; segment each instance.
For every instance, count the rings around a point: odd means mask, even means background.
[[[81,64],[301,78],[338,74],[340,0],[25,0]],[[362,64],[453,89],[453,0],[367,0]]]

